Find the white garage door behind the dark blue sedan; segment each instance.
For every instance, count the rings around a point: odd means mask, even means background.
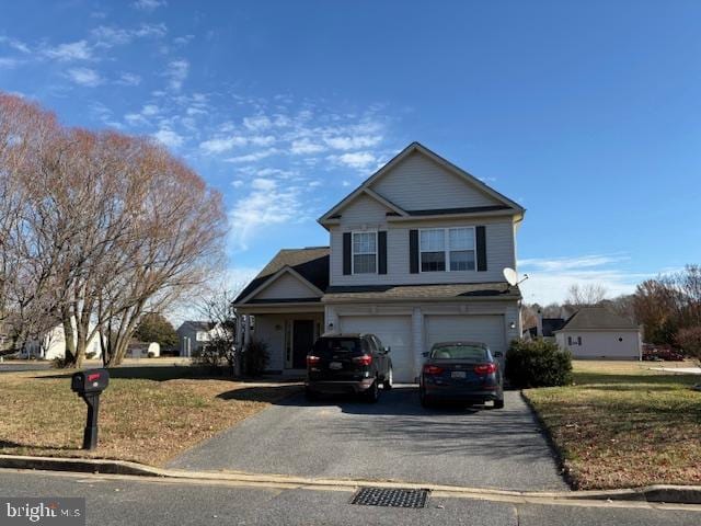
[[[438,342],[482,342],[494,353],[506,355],[503,316],[427,316],[426,344]]]

